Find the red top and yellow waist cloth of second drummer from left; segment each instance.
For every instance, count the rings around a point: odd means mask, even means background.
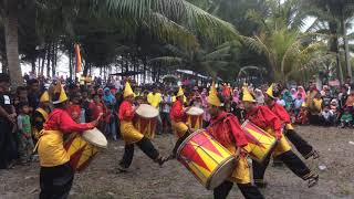
[[[121,121],[121,133],[124,142],[129,145],[139,142],[144,135],[133,125],[133,104],[124,101],[119,106],[118,117]]]

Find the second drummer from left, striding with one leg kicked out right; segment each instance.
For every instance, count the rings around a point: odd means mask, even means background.
[[[133,126],[133,118],[137,107],[133,108],[134,92],[128,82],[125,83],[123,97],[124,102],[119,106],[118,117],[121,121],[121,134],[125,142],[125,148],[118,169],[121,171],[127,171],[134,156],[134,144],[136,144],[149,158],[162,166],[167,158],[160,156],[150,139],[145,137]]]

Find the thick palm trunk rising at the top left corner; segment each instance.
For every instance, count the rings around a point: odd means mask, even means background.
[[[9,64],[9,73],[13,86],[23,84],[19,61],[19,33],[18,33],[18,0],[7,1],[7,15],[4,17],[4,36]]]

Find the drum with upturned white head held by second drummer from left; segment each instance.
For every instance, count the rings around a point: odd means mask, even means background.
[[[134,127],[146,137],[154,138],[158,109],[148,104],[140,104],[135,113]]]

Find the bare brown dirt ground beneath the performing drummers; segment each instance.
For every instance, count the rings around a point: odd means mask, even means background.
[[[320,174],[320,182],[309,189],[306,182],[294,176],[288,168],[269,167],[269,187],[262,190],[266,198],[288,199],[333,199],[354,198],[354,130],[335,127],[298,127],[298,133],[310,142],[321,154],[317,160],[306,164]],[[165,155],[173,147],[171,135],[157,136],[154,143]],[[176,160],[159,168],[138,148],[131,171],[117,172],[116,165],[123,154],[122,142],[111,142],[108,149],[100,153],[90,167],[75,175],[72,199],[101,198],[212,198]],[[325,166],[319,169],[319,166]],[[39,166],[17,166],[11,170],[0,170],[1,199],[32,199],[39,195]],[[242,198],[235,186],[229,198]]]

